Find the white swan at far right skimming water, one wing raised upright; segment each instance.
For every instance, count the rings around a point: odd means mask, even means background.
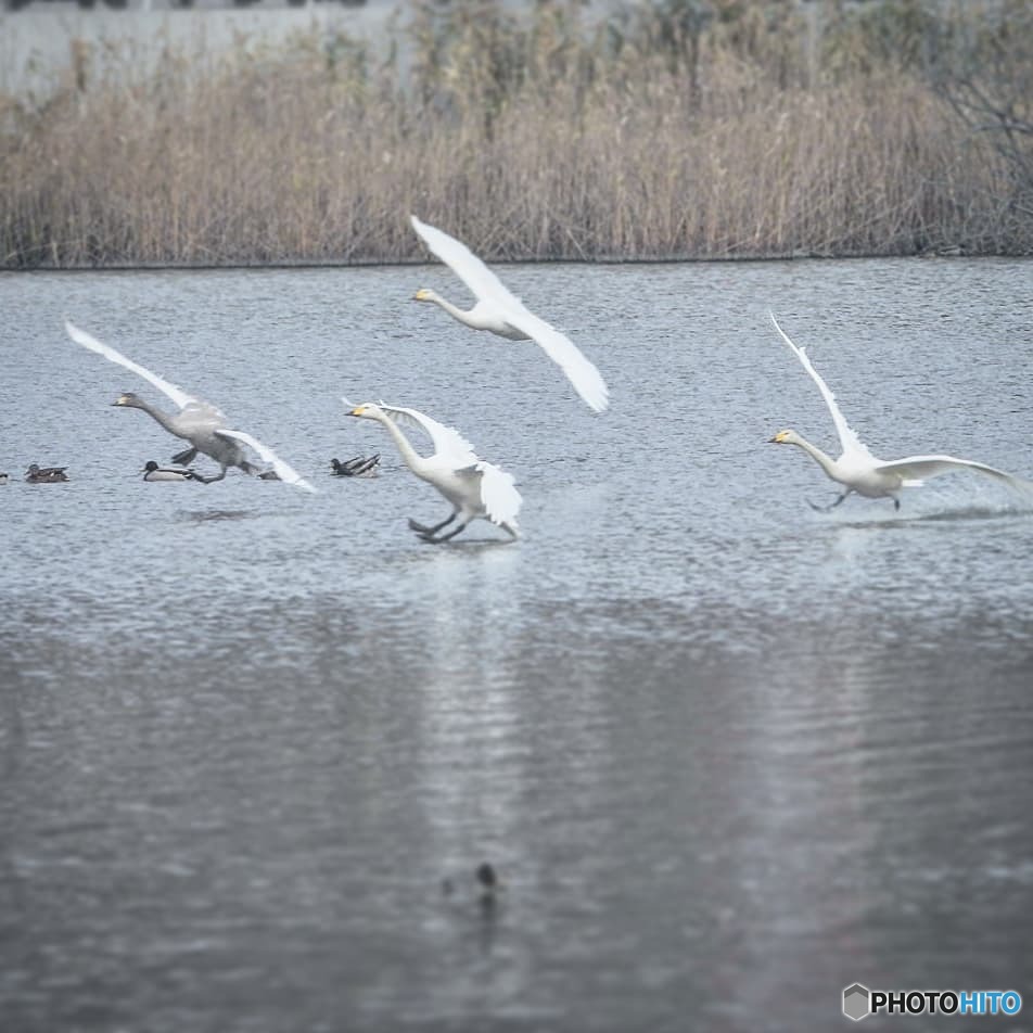
[[[953,473],[958,470],[969,470],[972,473],[981,473],[989,477],[1002,481],[1009,487],[1012,487],[1024,494],[1033,495],[1033,484],[1023,481],[1021,477],[1012,476],[1003,470],[994,467],[987,467],[981,462],[973,462],[971,459],[956,459],[954,456],[908,456],[906,459],[894,459],[889,462],[877,459],[868,448],[862,443],[860,438],[854,433],[846,422],[839,406],[836,404],[836,396],[829,390],[828,384],[818,375],[817,370],[811,365],[805,348],[798,347],[778,324],[774,313],[768,314],[775,329],[781,335],[781,339],[792,349],[793,355],[800,359],[801,365],[811,375],[812,380],[818,385],[825,404],[832,413],[832,422],[839,433],[840,445],[843,449],[839,459],[832,459],[826,455],[816,445],[812,445],[806,438],[801,437],[795,431],[779,431],[774,437],[769,438],[776,445],[796,445],[802,448],[812,459],[825,471],[832,480],[843,485],[843,492],[836,497],[836,500],[829,506],[815,506],[809,503],[812,509],[830,510],[839,506],[851,492],[864,495],[866,498],[892,498],[893,508],[901,508],[900,492],[902,488],[919,487],[930,477],[938,477],[944,473]]]

